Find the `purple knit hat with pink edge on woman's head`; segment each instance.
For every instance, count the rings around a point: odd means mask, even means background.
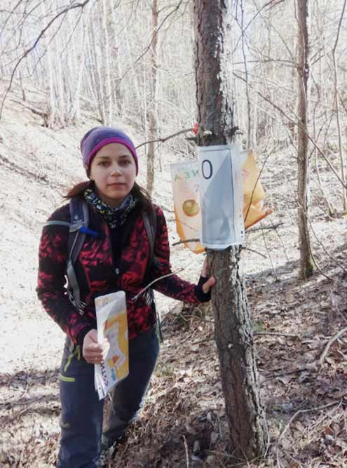
[[[99,149],[109,143],[121,143],[127,147],[135,161],[136,174],[139,171],[136,149],[128,135],[118,128],[113,127],[94,127],[83,136],[81,140],[81,153],[83,164],[90,168],[90,163]]]

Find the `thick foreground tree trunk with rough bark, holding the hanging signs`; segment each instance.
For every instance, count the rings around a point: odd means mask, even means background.
[[[222,0],[195,2],[199,145],[225,145],[233,138],[231,8],[226,5]],[[204,131],[212,135],[205,136]],[[209,251],[208,260],[217,280],[212,307],[231,452],[235,462],[253,460],[264,455],[266,422],[240,274],[240,247]]]

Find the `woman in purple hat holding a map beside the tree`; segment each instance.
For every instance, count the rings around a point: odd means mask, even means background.
[[[62,435],[57,467],[95,468],[100,448],[118,441],[137,415],[158,356],[156,313],[151,296],[137,293],[154,279],[170,274],[168,231],[163,211],[152,205],[137,185],[135,147],[123,131],[111,127],[92,128],[81,140],[88,182],[73,187],[67,199],[88,203],[90,232],[75,264],[80,304],[67,294],[65,274],[70,222],[69,203],[57,209],[50,221],[62,225],[43,228],[39,249],[37,293],[46,312],[67,334],[60,369]],[[155,213],[155,261],[149,272],[149,239],[144,211]],[[206,276],[204,265],[203,274]],[[161,293],[185,302],[210,300],[214,278],[201,276],[198,285],[176,275],[154,283]],[[94,385],[94,366],[107,356],[109,343],[97,343],[95,297],[124,290],[127,298],[129,375],[114,389],[107,429],[102,434],[102,406]]]

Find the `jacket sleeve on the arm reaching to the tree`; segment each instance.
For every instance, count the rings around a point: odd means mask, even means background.
[[[155,210],[156,241],[154,244],[154,263],[151,267],[149,281],[153,281],[161,276],[172,273],[170,265],[168,228],[166,226],[165,216],[161,208],[156,206]],[[163,293],[173,299],[194,304],[210,300],[210,293],[205,294],[202,289],[205,281],[207,281],[207,279],[200,277],[199,283],[195,285],[193,283],[189,283],[189,281],[179,278],[176,274],[173,274],[154,283],[153,288],[159,293]]]

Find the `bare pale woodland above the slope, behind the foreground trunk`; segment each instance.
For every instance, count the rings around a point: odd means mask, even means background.
[[[346,212],[346,2],[307,4],[309,179],[320,210],[334,215]],[[4,0],[5,90],[20,86],[27,105],[29,90],[39,92],[41,107],[33,110],[53,129],[78,124],[81,107],[100,123],[131,124],[143,142],[191,128],[196,116],[192,8],[189,1]],[[297,15],[295,1],[234,1],[230,64],[240,142],[261,154],[282,152],[292,159],[293,171],[301,87]],[[150,156],[156,152],[156,168],[163,149],[182,159],[193,155],[184,138],[147,145]],[[287,178],[294,181],[294,173]],[[280,201],[271,203],[276,208]]]

